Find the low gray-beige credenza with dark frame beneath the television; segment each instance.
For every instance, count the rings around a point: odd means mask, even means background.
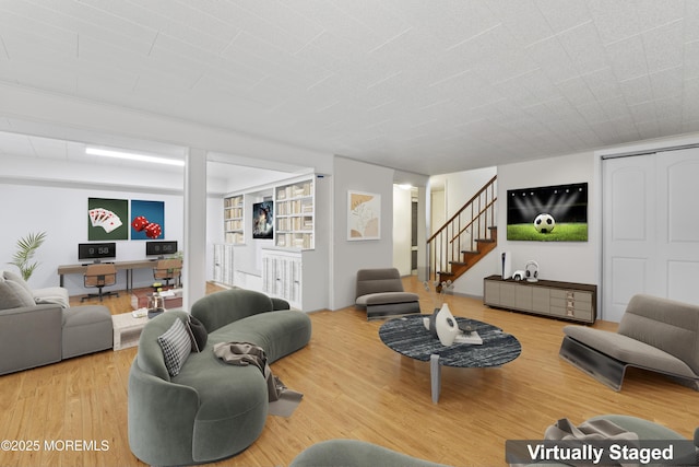
[[[489,276],[483,283],[483,303],[496,308],[592,324],[597,318],[597,287],[549,280],[503,280],[500,276]]]

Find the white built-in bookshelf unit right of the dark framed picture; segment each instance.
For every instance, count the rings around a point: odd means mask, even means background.
[[[315,248],[313,178],[274,188],[274,244],[281,248]]]

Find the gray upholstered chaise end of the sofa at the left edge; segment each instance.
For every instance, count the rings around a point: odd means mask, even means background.
[[[62,358],[111,349],[114,334],[109,308],[102,305],[63,310]]]

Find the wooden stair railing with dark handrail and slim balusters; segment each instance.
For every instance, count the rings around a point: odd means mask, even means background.
[[[461,261],[463,252],[477,250],[477,241],[490,238],[496,225],[497,175],[427,240],[427,277],[436,280],[449,272],[451,262]]]

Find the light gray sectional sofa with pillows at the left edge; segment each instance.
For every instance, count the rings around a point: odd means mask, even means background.
[[[0,375],[111,349],[112,339],[107,307],[71,307],[66,289],[33,290],[0,271]]]

